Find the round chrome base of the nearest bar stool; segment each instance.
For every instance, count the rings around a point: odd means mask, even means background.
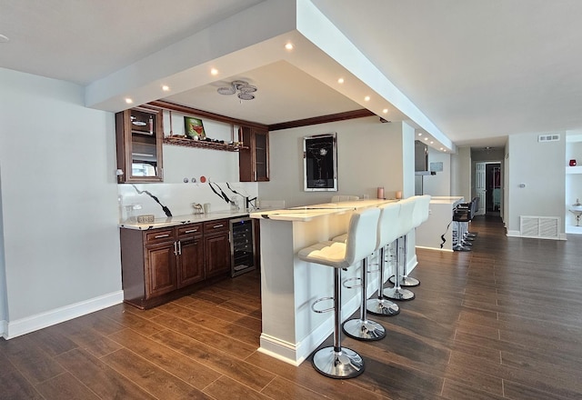
[[[323,347],[316,351],[312,360],[313,367],[321,375],[330,378],[347,379],[364,372],[364,360],[354,350],[347,347]]]

